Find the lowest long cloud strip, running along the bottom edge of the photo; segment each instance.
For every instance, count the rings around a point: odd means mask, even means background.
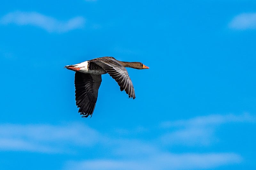
[[[101,170],[101,169],[206,169],[240,163],[242,158],[234,153],[207,154],[152,154],[149,158],[131,160],[96,159],[68,162],[65,169]]]

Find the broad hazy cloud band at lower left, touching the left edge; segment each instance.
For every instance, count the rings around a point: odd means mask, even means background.
[[[87,136],[84,136],[86,133]],[[104,138],[103,138],[104,139]],[[72,152],[72,146],[89,146],[99,141],[99,133],[88,126],[72,123],[53,125],[0,125],[0,150],[43,153]]]

